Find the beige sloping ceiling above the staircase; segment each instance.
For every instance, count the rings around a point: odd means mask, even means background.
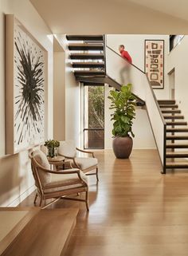
[[[53,33],[188,34],[187,0],[30,0]]]

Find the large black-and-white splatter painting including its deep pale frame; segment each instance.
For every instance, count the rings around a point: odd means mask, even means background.
[[[47,52],[14,18],[6,15],[6,154],[45,140]]]

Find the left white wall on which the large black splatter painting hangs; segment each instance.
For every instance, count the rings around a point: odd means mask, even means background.
[[[14,14],[48,51],[48,116],[46,137],[53,137],[53,41],[29,0],[0,0],[0,205],[16,205],[33,191],[28,152],[5,155],[5,14]]]

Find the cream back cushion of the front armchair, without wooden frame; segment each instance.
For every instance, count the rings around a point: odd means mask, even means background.
[[[33,159],[36,160],[41,167],[50,170],[49,160],[45,156],[45,153],[41,152],[41,150],[37,149],[33,151]],[[43,186],[45,186],[46,183],[51,182],[51,174],[49,172],[42,171],[40,167],[37,167],[37,171]]]

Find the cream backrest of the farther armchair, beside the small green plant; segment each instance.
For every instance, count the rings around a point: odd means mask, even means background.
[[[60,147],[57,148],[57,152],[61,156],[67,158],[76,157],[76,147],[72,140],[60,141]]]

